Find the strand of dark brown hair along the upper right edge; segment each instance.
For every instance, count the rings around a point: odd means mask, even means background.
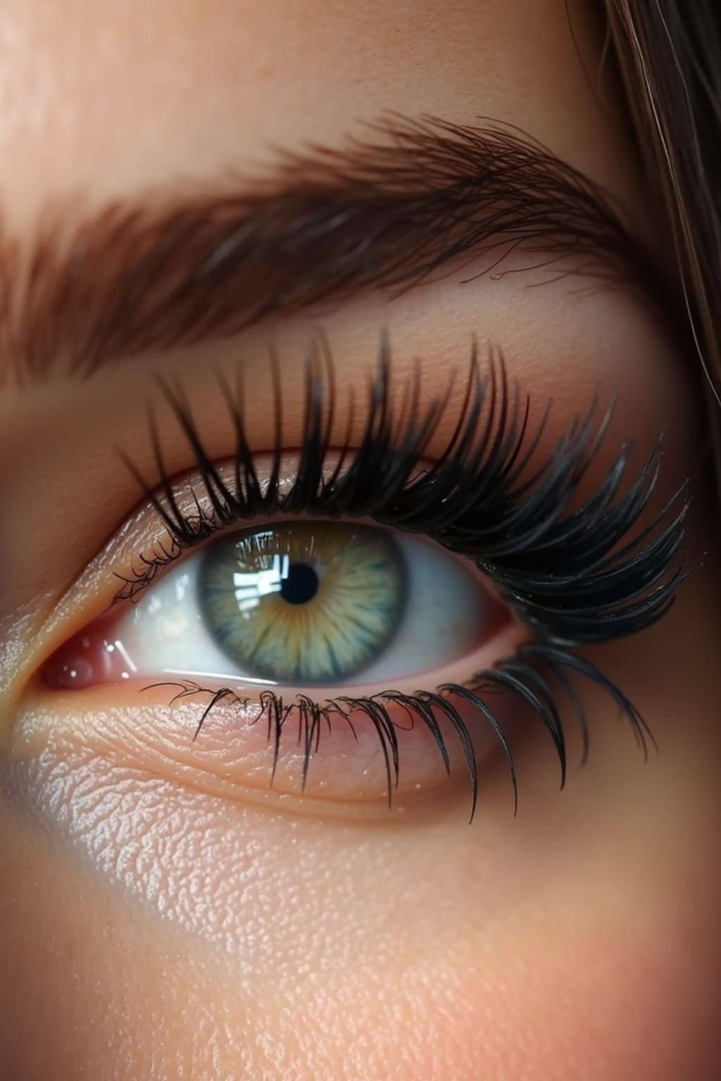
[[[721,464],[721,5],[605,0],[650,187],[676,248]]]

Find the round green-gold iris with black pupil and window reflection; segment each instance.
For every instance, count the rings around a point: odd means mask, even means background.
[[[331,683],[368,668],[396,633],[405,574],[392,534],[291,522],[210,546],[199,577],[205,625],[256,679]]]

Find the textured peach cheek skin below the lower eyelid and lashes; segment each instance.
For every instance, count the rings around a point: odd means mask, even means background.
[[[493,774],[466,828],[442,814],[293,820],[92,756],[16,771],[25,814],[5,806],[0,822],[15,883],[0,899],[14,929],[0,1024],[26,1049],[17,1076],[52,1064],[70,1081],[80,1060],[103,1078],[111,1049],[122,1081],[241,1067],[302,1081],[712,1078],[721,883],[699,852],[718,841],[719,748],[695,695],[721,688],[704,684],[709,580],[690,587],[642,655],[609,657],[631,694],[646,688],[662,753],[644,765],[591,696],[592,755],[562,797],[529,730],[517,819]],[[652,678],[673,650],[684,724]]]

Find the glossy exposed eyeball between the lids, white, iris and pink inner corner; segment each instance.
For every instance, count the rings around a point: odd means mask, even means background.
[[[308,520],[224,535],[63,648],[56,685],[131,676],[343,685],[438,669],[495,630],[477,575],[388,529]]]

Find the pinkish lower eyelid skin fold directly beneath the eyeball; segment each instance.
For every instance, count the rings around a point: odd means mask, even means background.
[[[492,652],[486,645],[481,656],[472,658],[476,664],[465,658],[465,663],[446,668],[443,678],[448,682],[468,680],[471,671],[489,666],[499,652],[512,653],[521,633],[520,628],[510,625],[490,643]],[[389,803],[395,818],[399,811],[418,810],[441,799],[444,803],[459,803],[468,816],[468,766],[450,720],[438,710],[435,716],[450,760],[448,773],[438,744],[423,721],[415,718],[411,722],[402,706],[387,705],[399,750],[398,783],[391,777],[389,800],[383,743],[363,710],[351,710],[348,720],[334,717],[330,725],[321,725],[318,745],[311,747],[304,789],[304,740],[310,733],[299,722],[297,711],[283,728],[271,779],[273,731],[269,731],[268,715],[258,719],[257,700],[244,706],[237,697],[222,699],[198,732],[211,689],[171,704],[182,690],[178,685],[144,688],[144,683],[133,681],[82,692],[54,692],[52,708],[46,705],[48,692],[42,691],[37,702],[28,703],[30,722],[21,719],[15,730],[14,756],[38,755],[48,744],[68,740],[114,764],[170,778],[211,796],[277,806],[292,814],[370,816],[387,822]],[[363,688],[357,693],[375,690]],[[417,690],[417,681],[405,690]],[[252,694],[252,689],[249,692]],[[284,691],[283,696],[285,703],[293,702],[292,691]],[[318,695],[318,699],[326,696]],[[492,706],[507,732],[516,709],[512,704],[507,707],[503,697],[494,694]],[[503,758],[498,737],[472,705],[457,698],[453,705],[470,733],[477,769],[482,775],[492,760]],[[509,801],[512,808],[510,786]]]

